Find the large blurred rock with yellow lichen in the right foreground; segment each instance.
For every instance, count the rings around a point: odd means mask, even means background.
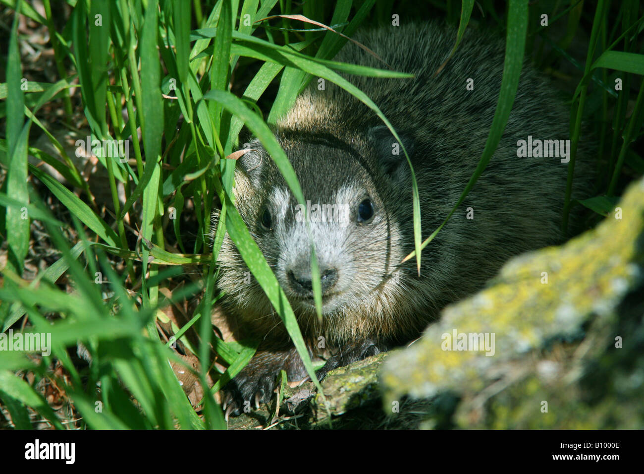
[[[642,428],[644,180],[596,229],[508,262],[383,370],[386,406],[455,393],[457,425]]]

